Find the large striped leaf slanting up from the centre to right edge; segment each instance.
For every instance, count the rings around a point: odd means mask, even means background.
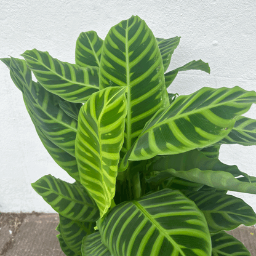
[[[122,161],[150,159],[157,154],[178,154],[210,146],[226,137],[235,118],[256,102],[256,92],[240,87],[204,87],[194,94],[179,96],[169,107],[148,121]]]

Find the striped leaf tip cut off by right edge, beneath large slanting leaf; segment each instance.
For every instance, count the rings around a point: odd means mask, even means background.
[[[231,132],[217,144],[256,145],[256,120],[239,116]]]

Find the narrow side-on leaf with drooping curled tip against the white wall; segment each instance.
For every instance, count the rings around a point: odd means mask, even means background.
[[[192,62],[186,63],[184,66],[164,74],[164,78],[166,80],[166,88],[169,87],[170,84],[174,81],[179,71],[186,70],[202,70],[210,74],[210,67],[208,63],[203,62],[202,60],[192,60]]]

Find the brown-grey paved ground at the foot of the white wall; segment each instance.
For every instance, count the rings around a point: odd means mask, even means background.
[[[1,256],[65,256],[55,228],[58,214],[0,213]],[[239,226],[229,234],[239,239],[256,256],[256,228]]]

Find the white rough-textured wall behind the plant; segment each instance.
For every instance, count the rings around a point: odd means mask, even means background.
[[[47,50],[74,63],[81,31],[105,38],[111,26],[131,15],[143,18],[159,38],[182,36],[170,68],[201,58],[211,74],[186,71],[169,88],[190,94],[203,86],[241,86],[256,90],[256,2],[248,1],[0,1],[0,57],[19,57],[27,49]],[[21,92],[0,63],[0,212],[54,212],[30,186],[46,174],[68,182],[42,146],[26,113]],[[256,107],[246,116],[256,119]],[[256,146],[222,146],[221,161],[256,176]],[[236,194],[236,193],[235,193]],[[254,210],[256,196],[239,194]]]

